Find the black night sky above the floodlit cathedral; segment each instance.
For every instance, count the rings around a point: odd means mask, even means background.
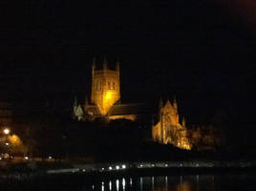
[[[90,95],[93,57],[100,63],[105,56],[113,67],[121,63],[122,102],[176,96],[188,123],[224,114],[251,125],[255,5],[249,0],[3,1],[2,97],[82,99]]]

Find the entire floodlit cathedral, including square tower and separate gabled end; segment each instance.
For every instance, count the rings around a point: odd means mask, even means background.
[[[181,149],[191,149],[187,138],[184,119],[180,123],[178,104],[176,99],[169,100],[163,105],[160,100],[158,113],[142,103],[120,103],[120,66],[117,62],[116,69],[108,68],[106,59],[102,67],[96,67],[96,60],[92,65],[92,91],[91,102],[85,98],[83,104],[78,104],[76,98],[73,106],[73,117],[76,120],[91,120],[103,118],[106,121],[118,118],[138,120],[142,115],[147,121],[153,116],[158,116],[159,122],[152,124],[152,139],[161,144],[173,144]],[[145,115],[147,114],[147,115]]]

